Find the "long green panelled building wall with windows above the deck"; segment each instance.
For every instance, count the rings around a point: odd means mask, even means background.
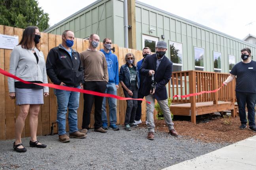
[[[156,31],[151,33],[150,28],[154,28]],[[222,54],[222,72],[229,72],[228,55],[234,55],[236,63],[238,63],[241,61],[240,50],[242,48],[249,47],[252,50],[252,55],[255,55],[256,52],[254,46],[242,40],[136,3],[137,49],[142,48],[142,34],[158,37],[159,41],[164,40],[167,44],[169,41],[182,43],[183,70],[195,69],[194,46],[204,48],[205,71],[214,71],[213,51]],[[164,35],[165,39],[161,39],[161,35]]]

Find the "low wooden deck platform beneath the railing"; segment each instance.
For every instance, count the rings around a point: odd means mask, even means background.
[[[232,102],[218,101],[217,105],[213,102],[200,102],[196,103],[196,116],[233,109]],[[173,115],[191,116],[191,103],[172,104],[170,110]]]

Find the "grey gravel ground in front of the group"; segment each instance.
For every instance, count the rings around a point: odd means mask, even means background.
[[[222,148],[228,143],[203,143],[158,132],[148,140],[141,127],[107,133],[90,129],[86,139],[58,141],[58,135],[40,136],[47,148],[30,148],[30,138],[23,138],[26,153],[13,151],[14,140],[0,141],[0,170],[159,170],[173,164]]]

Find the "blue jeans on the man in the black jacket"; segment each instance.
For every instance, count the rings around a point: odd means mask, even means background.
[[[75,87],[80,89],[80,86]],[[77,127],[77,109],[79,107],[79,92],[64,91],[54,89],[54,94],[57,97],[57,120],[58,135],[66,134],[66,114],[68,109],[68,125],[70,133],[78,131]]]

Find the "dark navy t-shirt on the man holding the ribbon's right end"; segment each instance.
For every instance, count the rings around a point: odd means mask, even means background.
[[[230,74],[237,76],[235,91],[256,93],[256,61],[237,63]]]

